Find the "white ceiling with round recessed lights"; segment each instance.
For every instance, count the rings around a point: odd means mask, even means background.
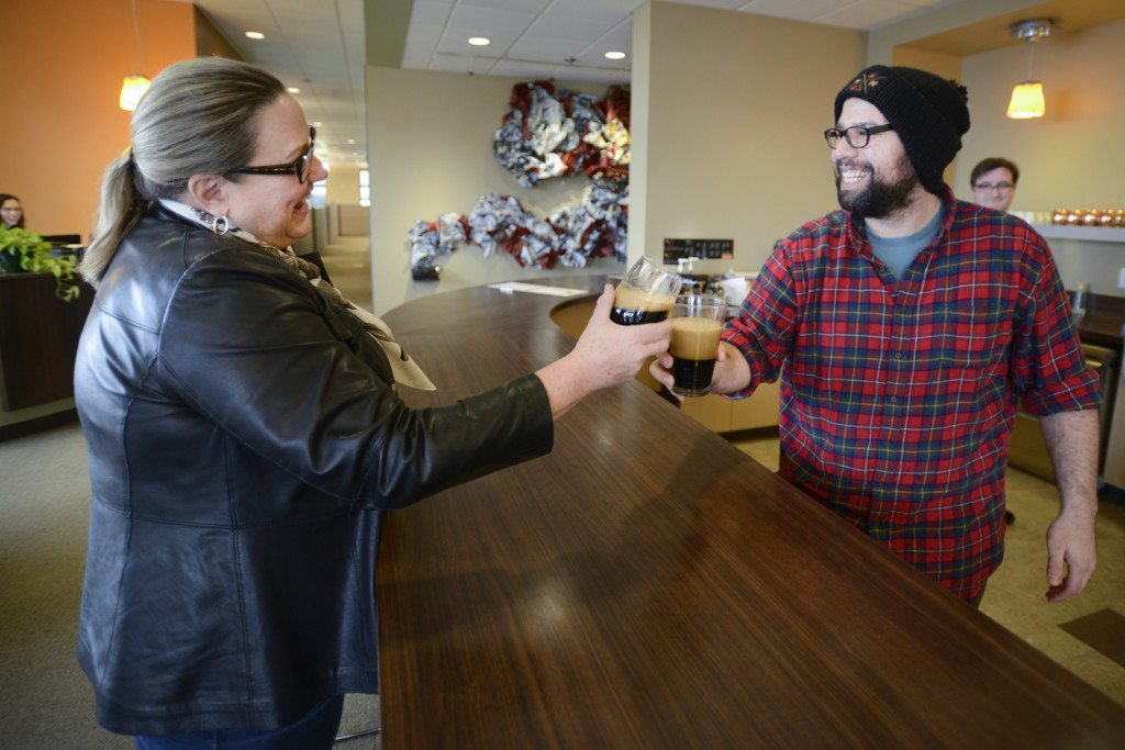
[[[194,0],[243,58],[300,89],[295,96],[309,121],[322,124],[317,154],[330,164],[360,164],[367,159],[364,1],[387,0]],[[402,67],[624,83],[631,17],[645,1],[414,0]],[[677,1],[873,29],[955,0]],[[262,31],[266,39],[249,39],[246,30]],[[470,36],[493,43],[471,47]],[[626,58],[606,60],[610,49],[624,52]]]

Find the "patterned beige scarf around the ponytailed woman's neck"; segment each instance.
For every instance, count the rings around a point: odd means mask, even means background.
[[[426,377],[425,372],[422,371],[422,368],[420,368],[417,363],[403,351],[402,345],[395,341],[394,334],[390,333],[390,327],[384,323],[381,318],[346,299],[340,293],[339,289],[321,277],[321,270],[316,268],[315,264],[297,257],[297,254],[292,252],[291,247],[286,247],[285,250],[274,247],[267,242],[262,242],[245,229],[238,229],[233,226],[226,217],[213,216],[212,214],[208,214],[200,208],[196,208],[195,206],[188,206],[186,204],[181,204],[176,200],[168,200],[165,198],[161,198],[160,204],[177,216],[186,218],[192,224],[198,224],[199,226],[210,229],[215,234],[234,235],[240,240],[244,240],[253,245],[256,245],[260,250],[272,255],[273,257],[277,257],[282,263],[300,273],[303,277],[308,279],[308,282],[313,284],[317,291],[325,297],[335,300],[349,313],[359,318],[360,323],[363,324],[363,328],[367,329],[368,334],[370,334],[371,337],[379,343],[379,346],[382,347],[382,351],[386,352],[387,359],[390,361],[390,371],[395,376],[395,382],[410,386],[411,388],[417,388],[418,390],[436,390],[436,387],[430,381],[430,378]]]

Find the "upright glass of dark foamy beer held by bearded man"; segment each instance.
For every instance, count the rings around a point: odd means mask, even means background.
[[[672,392],[706,396],[711,390],[719,335],[727,320],[727,300],[706,295],[676,298],[672,310]]]

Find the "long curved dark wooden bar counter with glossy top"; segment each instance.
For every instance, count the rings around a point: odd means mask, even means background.
[[[404,397],[542,367],[560,304],[396,308],[439,388]],[[551,454],[388,514],[376,578],[388,750],[1125,747],[1125,708],[637,382]]]

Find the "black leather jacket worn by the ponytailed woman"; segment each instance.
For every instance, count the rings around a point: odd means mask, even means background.
[[[98,290],[75,400],[93,501],[79,661],[115,732],[290,723],[378,689],[384,508],[541,455],[542,383],[411,410],[351,314],[152,215]]]

